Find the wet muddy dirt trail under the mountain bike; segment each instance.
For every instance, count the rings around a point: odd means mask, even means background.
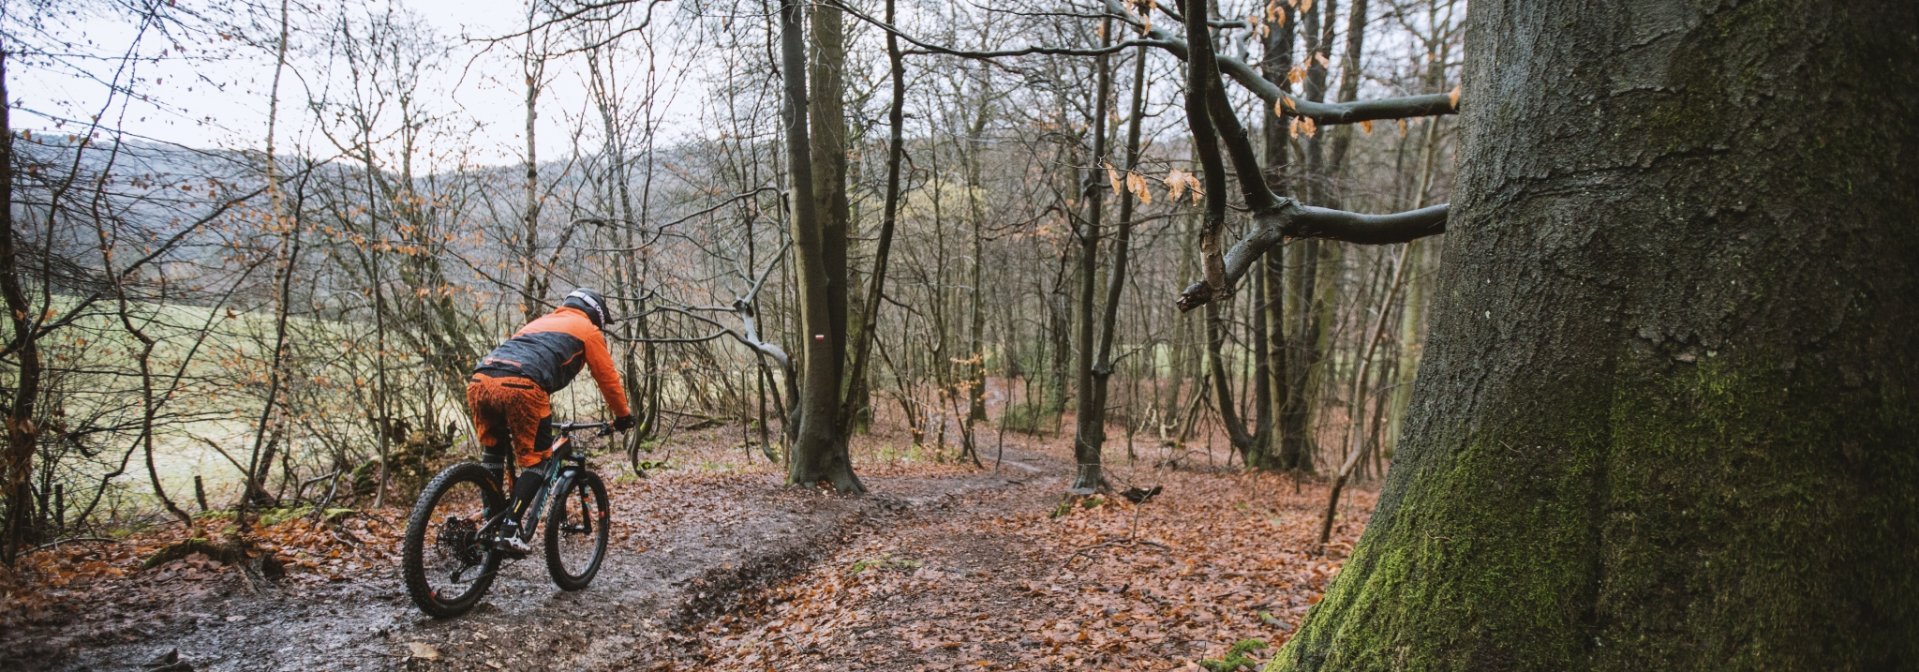
[[[674,666],[700,655],[689,632],[848,541],[983,492],[1038,492],[1054,478],[1036,472],[1059,472],[1042,455],[1007,457],[1019,463],[998,474],[869,476],[873,493],[856,499],[781,488],[768,474],[614,486],[626,530],[585,591],[555,589],[535,557],[503,568],[474,612],[432,620],[407,599],[397,566],[259,593],[228,572],[173,591],[129,591],[84,607],[79,622],[21,628],[0,637],[0,668],[138,670],[169,651],[194,670]],[[397,543],[374,543],[386,541]]]

